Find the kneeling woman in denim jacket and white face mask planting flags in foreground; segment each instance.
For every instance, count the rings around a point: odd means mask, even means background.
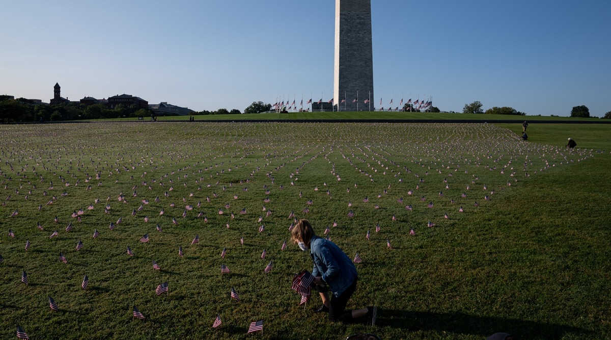
[[[356,267],[342,249],[335,243],[316,236],[314,229],[307,220],[299,220],[291,232],[291,239],[299,245],[301,250],[310,249],[310,256],[314,261],[312,276],[323,306],[318,311],[328,311],[329,319],[352,323],[357,319],[367,317],[371,325],[376,322],[376,307],[346,311],[349,298],[356,290]],[[329,286],[333,296],[329,299],[325,284]],[[326,288],[326,287],[325,287]]]

